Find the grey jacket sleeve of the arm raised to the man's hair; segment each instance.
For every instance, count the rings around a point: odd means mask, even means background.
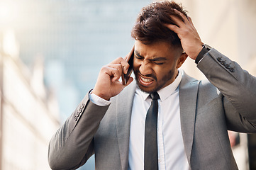
[[[256,132],[256,78],[215,49],[197,67],[223,94],[228,129]]]

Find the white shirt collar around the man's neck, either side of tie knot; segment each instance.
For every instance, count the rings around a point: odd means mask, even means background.
[[[180,81],[182,81],[182,72],[178,73],[178,76],[176,77],[176,79],[172,82],[172,84],[169,84],[168,86],[166,86],[165,88],[160,89],[159,91],[157,91],[157,93],[160,96],[161,101],[165,101],[165,99],[167,99],[169,96],[171,96],[175,91],[177,91],[178,86]],[[141,96],[143,96],[143,99],[146,100],[148,98],[148,96],[150,94],[141,91],[138,86],[136,88],[136,93],[140,94]]]

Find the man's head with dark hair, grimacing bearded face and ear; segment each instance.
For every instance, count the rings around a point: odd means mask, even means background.
[[[176,25],[170,16],[182,20],[174,9],[187,16],[182,6],[170,1],[145,6],[131,31],[135,39],[133,71],[140,89],[148,93],[171,84],[187,59],[177,33],[165,26]]]

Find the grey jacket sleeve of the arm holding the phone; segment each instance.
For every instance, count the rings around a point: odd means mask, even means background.
[[[51,169],[77,169],[94,154],[94,135],[108,106],[96,106],[87,94],[50,140]]]

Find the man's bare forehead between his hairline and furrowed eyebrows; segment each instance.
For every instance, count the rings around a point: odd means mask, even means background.
[[[168,59],[173,59],[179,54],[179,49],[172,47],[167,42],[154,42],[149,45],[145,45],[142,42],[135,41],[135,54],[145,57],[145,58],[155,58],[155,57],[165,57]]]

